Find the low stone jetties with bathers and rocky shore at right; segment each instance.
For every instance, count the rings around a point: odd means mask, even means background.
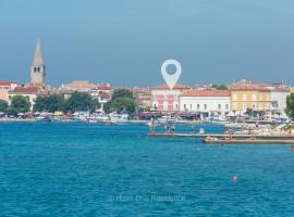
[[[234,126],[237,128],[228,128],[228,126]],[[169,129],[172,126],[168,127]],[[291,125],[252,125],[250,123],[235,125],[228,124],[226,130],[223,133],[205,133],[205,129],[201,127],[199,133],[194,132],[194,126],[192,125],[191,132],[175,132],[166,131],[164,125],[163,132],[157,132],[156,128],[151,128],[148,133],[149,138],[194,138],[200,139],[205,144],[294,144],[294,135]]]

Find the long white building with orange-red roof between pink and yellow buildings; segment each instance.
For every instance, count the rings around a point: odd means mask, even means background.
[[[204,116],[225,115],[230,112],[229,90],[191,90],[180,97],[181,112],[195,112]]]

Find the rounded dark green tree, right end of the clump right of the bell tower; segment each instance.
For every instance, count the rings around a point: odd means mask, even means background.
[[[95,112],[99,103],[97,100],[93,100],[88,93],[74,92],[64,105],[68,111],[89,111]]]

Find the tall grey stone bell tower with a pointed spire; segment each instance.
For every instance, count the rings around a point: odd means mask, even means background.
[[[37,40],[35,56],[30,67],[30,85],[44,86],[45,85],[45,63],[41,53],[40,40]]]

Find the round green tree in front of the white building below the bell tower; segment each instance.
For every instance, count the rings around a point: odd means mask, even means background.
[[[19,113],[28,112],[30,108],[30,103],[28,98],[23,95],[14,95],[11,101],[11,105],[8,108],[8,114],[17,115]]]

